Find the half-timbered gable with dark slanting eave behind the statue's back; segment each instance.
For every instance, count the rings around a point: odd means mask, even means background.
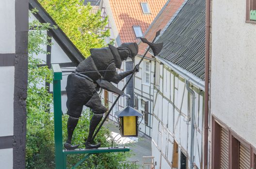
[[[37,19],[41,23],[50,23],[50,25],[58,26],[37,0],[29,0],[29,9],[32,10],[34,8],[36,8],[38,12],[31,14],[29,18],[30,22]],[[50,37],[48,41],[51,42],[52,45],[42,46],[48,54],[38,54],[35,57],[40,58],[44,62],[42,66],[48,66],[49,69],[51,64],[60,64],[62,71],[64,72],[62,80],[62,111],[65,113],[67,111],[67,96],[65,91],[67,75],[84,60],[84,56],[69,40],[61,28],[57,27],[56,29],[49,29],[48,31],[45,31],[45,34]],[[46,83],[46,86],[48,86],[49,92],[52,92],[52,84]]]

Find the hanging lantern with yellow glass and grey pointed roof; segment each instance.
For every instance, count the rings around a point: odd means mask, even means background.
[[[115,112],[120,125],[120,134],[122,137],[137,137],[138,136],[138,118],[142,117],[142,113],[133,109],[130,106]],[[142,121],[142,120],[141,120]],[[141,122],[140,122],[141,123]]]

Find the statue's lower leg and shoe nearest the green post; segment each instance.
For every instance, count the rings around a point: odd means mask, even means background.
[[[67,150],[74,150],[79,147],[79,144],[78,145],[71,144],[73,132],[74,132],[75,128],[77,127],[78,120],[79,120],[79,118],[72,117],[72,116],[69,116],[69,118],[67,120],[67,141],[66,141],[66,143],[64,143],[64,147]]]

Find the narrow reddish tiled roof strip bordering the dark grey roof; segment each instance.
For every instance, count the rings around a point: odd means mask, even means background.
[[[166,26],[183,2],[184,0],[168,0],[145,32],[144,38],[149,42],[152,42],[155,38],[156,32]],[[143,56],[147,47],[148,45],[146,43],[140,42],[138,55]],[[146,57],[152,58],[150,53],[147,53]]]

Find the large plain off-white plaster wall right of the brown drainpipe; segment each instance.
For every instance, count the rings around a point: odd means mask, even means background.
[[[212,1],[211,113],[256,146],[256,25],[245,0]]]

